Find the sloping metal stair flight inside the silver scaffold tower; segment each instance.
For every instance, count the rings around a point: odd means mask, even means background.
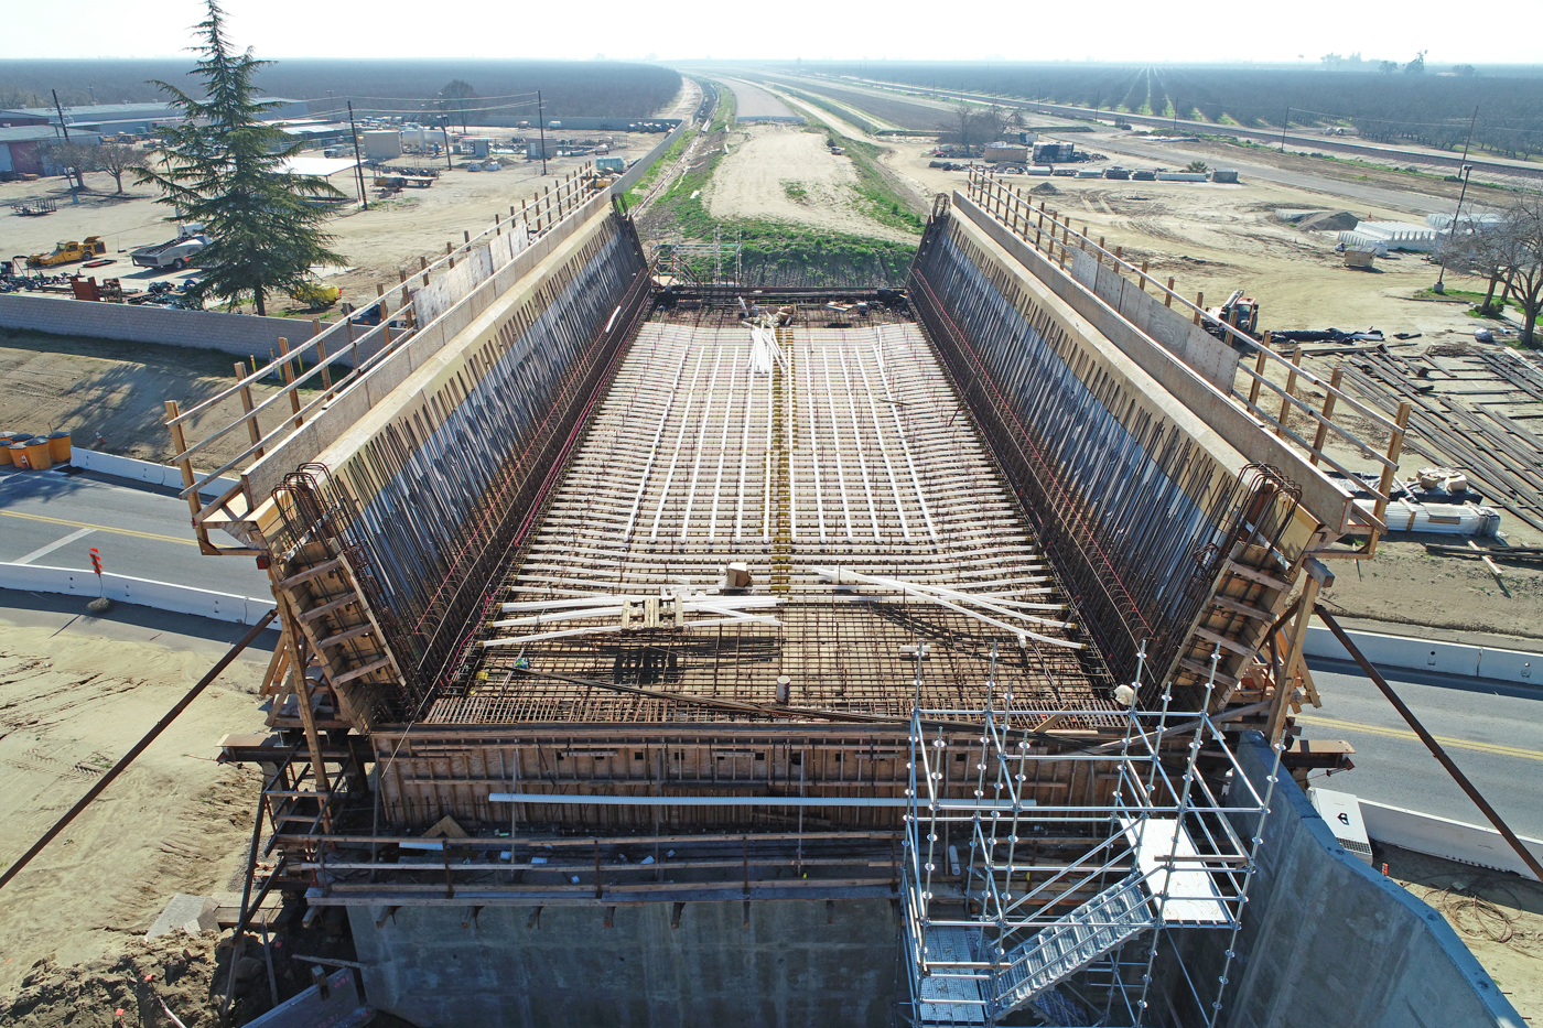
[[[1122,878],[1012,948],[992,976],[992,1019],[1035,999],[1156,923],[1140,874]]]

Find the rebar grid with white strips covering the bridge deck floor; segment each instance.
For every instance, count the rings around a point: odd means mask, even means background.
[[[747,718],[702,698],[903,721],[907,654],[926,654],[924,702],[974,707],[995,644],[1025,701],[1113,710],[1102,661],[918,327],[875,304],[852,315],[863,327],[829,329],[847,315],[798,306],[758,370],[745,310],[676,307],[643,324],[503,614],[485,622],[483,656],[426,721]],[[730,562],[748,588],[727,585]],[[654,622],[616,613],[650,597]],[[676,597],[736,616],[671,614]],[[1046,645],[1020,645],[1023,631]]]

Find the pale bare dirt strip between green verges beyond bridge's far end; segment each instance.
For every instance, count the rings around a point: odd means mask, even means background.
[[[707,208],[714,218],[764,218],[915,242],[915,236],[861,211],[852,159],[830,153],[824,133],[802,125],[745,125],[728,137],[728,156],[707,190]]]

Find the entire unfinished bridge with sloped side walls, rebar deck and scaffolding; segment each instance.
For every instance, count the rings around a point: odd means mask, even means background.
[[[839,295],[662,292],[585,182],[250,414],[168,406],[282,624],[222,753],[264,772],[245,908],[344,909],[421,1025],[1503,1023],[1293,781],[1345,755],[1293,738],[1301,647],[1401,418],[1295,369],[1338,400],[1301,437],[1287,358],[984,174]]]

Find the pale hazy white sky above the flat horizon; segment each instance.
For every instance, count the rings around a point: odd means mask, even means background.
[[[202,15],[196,0],[9,3],[0,57],[168,57]],[[935,60],[1307,60],[1335,51],[1409,60],[1429,49],[1440,71],[1457,62],[1538,63],[1538,0],[1492,0],[1481,22],[1452,22],[1435,0],[1345,3],[1296,0],[974,5],[974,17],[1009,12],[972,31],[950,3],[782,0],[765,5],[406,3],[366,0],[225,0],[231,39],[262,57],[838,57]],[[1531,14],[1528,14],[1531,11]],[[659,17],[650,22],[650,12]],[[773,17],[775,12],[775,17]],[[787,26],[779,31],[776,26]],[[1207,43],[1213,49],[1207,49]]]

